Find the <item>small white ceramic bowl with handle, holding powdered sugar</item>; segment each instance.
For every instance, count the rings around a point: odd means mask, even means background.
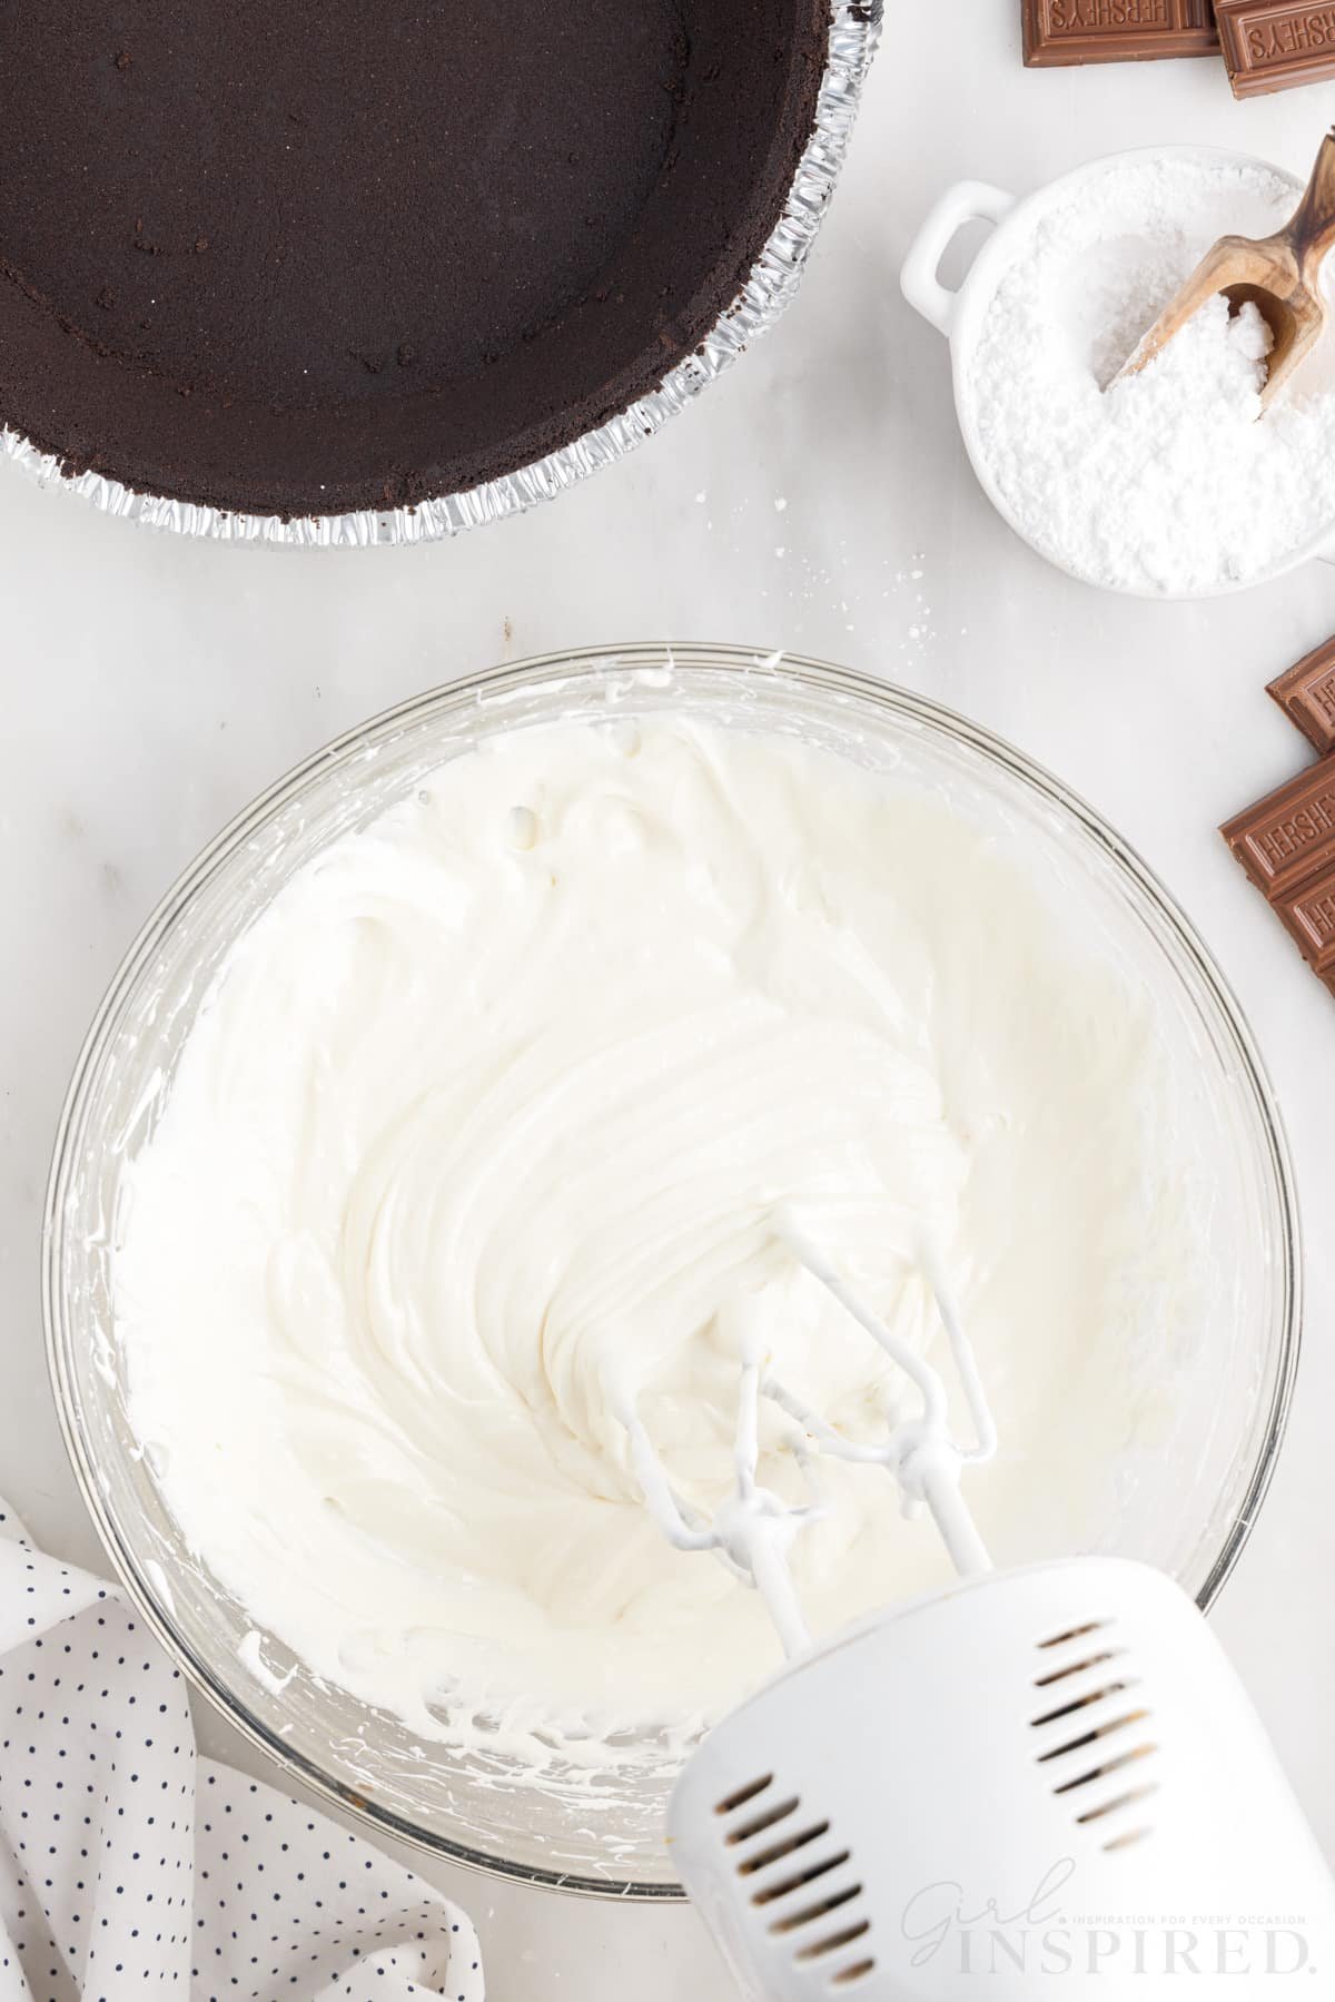
[[[1099,176],[1107,174],[1111,166],[1131,164],[1137,160],[1195,160],[1215,166],[1259,168],[1261,172],[1275,174],[1279,180],[1285,180],[1293,188],[1295,202],[1303,188],[1301,180],[1289,174],[1283,166],[1273,166],[1269,160],[1257,160],[1253,154],[1245,152],[1221,152],[1217,146],[1141,146],[1133,152],[1105,154],[1099,160],[1087,160],[1069,174],[1061,174],[1057,180],[1049,180],[1047,186],[1023,198],[1007,194],[1003,188],[995,188],[987,180],[959,180],[953,188],[945,190],[923,222],[921,230],[913,238],[913,244],[909,246],[909,254],[899,274],[899,284],[909,304],[921,312],[923,318],[937,328],[937,332],[945,334],[951,344],[955,412],[959,416],[965,450],[969,452],[973,470],[979,476],[979,486],[993,503],[1001,519],[1015,529],[1021,541],[1029,543],[1029,547],[1035,549],[1037,555],[1045,557],[1055,569],[1065,571],[1067,577],[1075,577],[1085,585],[1095,581],[1085,577],[1081,571],[1073,571],[1069,565],[1053,557],[1051,551],[1041,549],[1031,537],[1025,535],[1011,511],[1011,505],[993,478],[979,438],[979,418],[971,390],[973,354],[997,286],[1003,282],[1011,266],[1025,254],[1031,234],[1041,218],[1055,208],[1079,200],[1081,190]],[[939,278],[941,260],[951,240],[969,222],[991,222],[993,232],[969,266],[959,290],[951,290]],[[1297,571],[1299,565],[1309,563],[1313,557],[1335,561],[1335,523],[1321,529],[1319,535],[1313,535],[1311,541],[1291,551],[1279,563],[1273,563],[1267,571],[1259,571],[1255,577],[1239,579],[1237,583],[1213,585],[1205,591],[1141,591],[1133,585],[1097,585],[1095,589],[1121,589],[1129,597],[1141,599],[1219,599],[1231,595],[1233,591],[1251,591],[1253,585],[1265,585],[1275,577]]]

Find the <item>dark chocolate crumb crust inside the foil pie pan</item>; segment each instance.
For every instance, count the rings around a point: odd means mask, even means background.
[[[0,8],[0,420],[256,515],[500,478],[743,288],[829,0]]]

